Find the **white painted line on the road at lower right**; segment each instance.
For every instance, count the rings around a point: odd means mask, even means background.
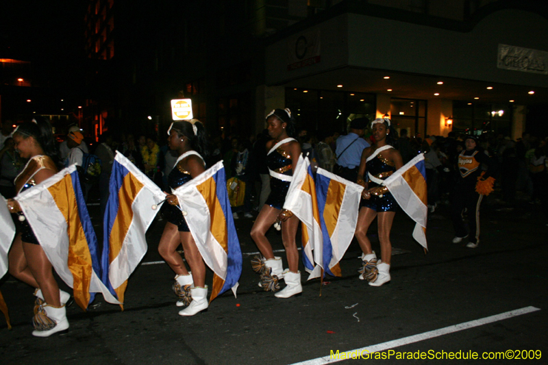
[[[409,336],[400,338],[399,340],[393,340],[388,342],[383,342],[382,344],[373,344],[372,346],[368,347],[362,347],[361,349],[351,350],[347,351],[343,355],[343,353],[339,353],[338,358],[332,358],[330,356],[324,356],[324,357],[318,357],[317,359],[308,360],[305,362],[297,362],[292,365],[323,365],[323,364],[333,364],[334,362],[340,362],[343,360],[351,359],[351,354],[354,353],[375,353],[379,351],[384,351],[388,349],[394,349],[395,347],[400,347],[406,344],[412,344],[414,342],[429,340],[430,338],[435,338],[443,335],[447,335],[449,333],[462,331],[464,329],[470,329],[473,327],[478,327],[482,325],[487,325],[488,323],[498,322],[499,320],[508,319],[516,316],[521,316],[522,314],[527,314],[531,312],[536,312],[540,310],[540,308],[536,307],[523,307],[519,310],[511,310],[510,312],[504,312],[501,314],[496,314],[495,316],[489,316],[485,318],[480,318],[476,320],[471,320],[470,322],[464,322],[460,323],[459,325],[453,325],[445,328],[440,329],[434,329],[434,331],[428,331],[425,333],[419,333],[418,335]],[[341,358],[343,357],[343,358]]]

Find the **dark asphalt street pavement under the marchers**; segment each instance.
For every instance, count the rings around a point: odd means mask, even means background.
[[[258,288],[250,264],[257,251],[249,237],[253,219],[240,218],[238,297],[227,292],[208,312],[188,318],[177,315],[174,274],[158,254],[165,221],[155,221],[147,232],[149,251],[129,279],[124,311],[97,295],[88,312],[77,305],[67,309],[71,327],[64,335],[31,335],[33,290],[6,275],[0,290],[13,329],[8,331],[0,317],[0,364],[326,364],[336,360],[329,360],[331,351],[335,357],[340,351],[341,360],[345,351],[362,353],[373,345],[390,358],[340,363],[506,364],[500,359],[447,360],[447,353],[500,357],[510,350],[514,357],[536,357],[527,363],[547,364],[547,220],[538,205],[520,201],[508,210],[495,197],[488,200],[477,249],[451,243],[447,205],[429,216],[427,254],[411,237],[414,223],[398,212],[389,285],[373,288],[358,279],[360,250],[353,242],[340,263],[343,277],[327,277],[321,287],[317,279],[307,282],[303,273],[303,294],[290,299]],[[99,231],[99,221],[95,225]],[[369,236],[378,254],[376,233],[374,222]],[[268,237],[275,250],[283,249],[278,231],[271,229]],[[279,255],[285,263],[284,253]],[[439,357],[443,351],[445,360],[396,358],[397,353]]]

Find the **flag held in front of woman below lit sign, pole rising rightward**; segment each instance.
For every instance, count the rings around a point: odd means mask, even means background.
[[[210,301],[228,289],[236,295],[242,251],[228,200],[223,162],[175,189],[179,207],[203,261],[213,270]]]

